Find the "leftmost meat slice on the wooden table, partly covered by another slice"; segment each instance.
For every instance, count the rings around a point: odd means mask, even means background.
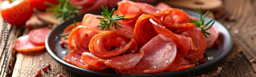
[[[14,44],[14,50],[16,52],[37,52],[45,49],[45,45],[38,45],[32,43],[29,40],[29,35],[18,37]]]

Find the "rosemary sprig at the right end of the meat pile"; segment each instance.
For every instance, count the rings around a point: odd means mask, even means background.
[[[204,24],[204,18],[210,13],[210,11],[207,11],[207,12],[205,12],[205,14],[203,14],[202,8],[200,8],[200,10],[197,10],[197,12],[200,14],[200,20],[190,19],[190,22],[195,23],[195,25],[197,27],[200,27],[203,35],[205,37],[208,37],[207,35],[210,35],[210,33],[206,32],[206,30],[209,30],[216,20],[214,18],[212,18],[210,21],[208,21],[207,23]],[[209,27],[205,28],[208,24],[210,24]]]

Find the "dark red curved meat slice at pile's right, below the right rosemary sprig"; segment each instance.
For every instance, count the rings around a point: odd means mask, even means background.
[[[204,54],[204,51],[206,49],[206,39],[201,31],[199,31],[197,28],[192,28],[182,32],[180,35],[190,37],[193,40],[195,47],[198,49],[190,49],[185,56],[186,58],[194,59]]]

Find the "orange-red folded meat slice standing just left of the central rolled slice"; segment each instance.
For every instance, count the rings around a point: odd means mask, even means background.
[[[82,25],[76,27],[68,36],[69,50],[75,50],[78,54],[89,52],[89,43],[92,37],[100,32],[83,27]]]

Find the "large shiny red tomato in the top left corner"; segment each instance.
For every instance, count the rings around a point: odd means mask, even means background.
[[[31,17],[33,10],[29,0],[19,0],[12,3],[4,1],[1,4],[1,14],[3,19],[8,19],[10,24],[20,26]]]

